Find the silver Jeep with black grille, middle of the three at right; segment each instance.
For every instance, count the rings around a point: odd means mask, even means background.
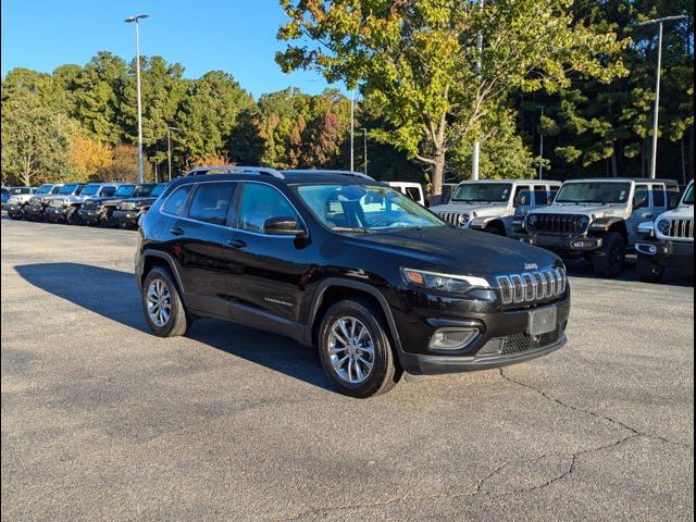
[[[566,182],[554,204],[530,212],[522,240],[561,256],[585,256],[602,277],[618,276],[638,226],[673,208],[676,182],[602,178]]]

